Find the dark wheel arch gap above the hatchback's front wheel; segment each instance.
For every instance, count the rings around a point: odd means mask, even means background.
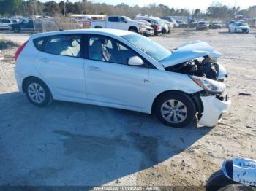
[[[189,93],[186,93],[186,92],[181,91],[181,90],[166,90],[166,91],[164,91],[164,92],[162,92],[162,93],[159,93],[159,94],[157,95],[157,97],[154,98],[154,101],[153,101],[152,106],[151,106],[151,114],[154,114],[154,107],[155,107],[155,104],[157,103],[157,99],[158,99],[161,95],[163,95],[163,94],[165,94],[165,93],[182,93],[182,94],[184,94],[184,95],[188,95],[188,96],[192,99],[192,101],[194,102],[195,107],[196,107],[196,111],[197,111],[197,112],[200,112],[200,113],[203,112],[203,104],[202,104],[202,101],[200,100],[199,95],[197,95],[196,93],[189,94]]]

